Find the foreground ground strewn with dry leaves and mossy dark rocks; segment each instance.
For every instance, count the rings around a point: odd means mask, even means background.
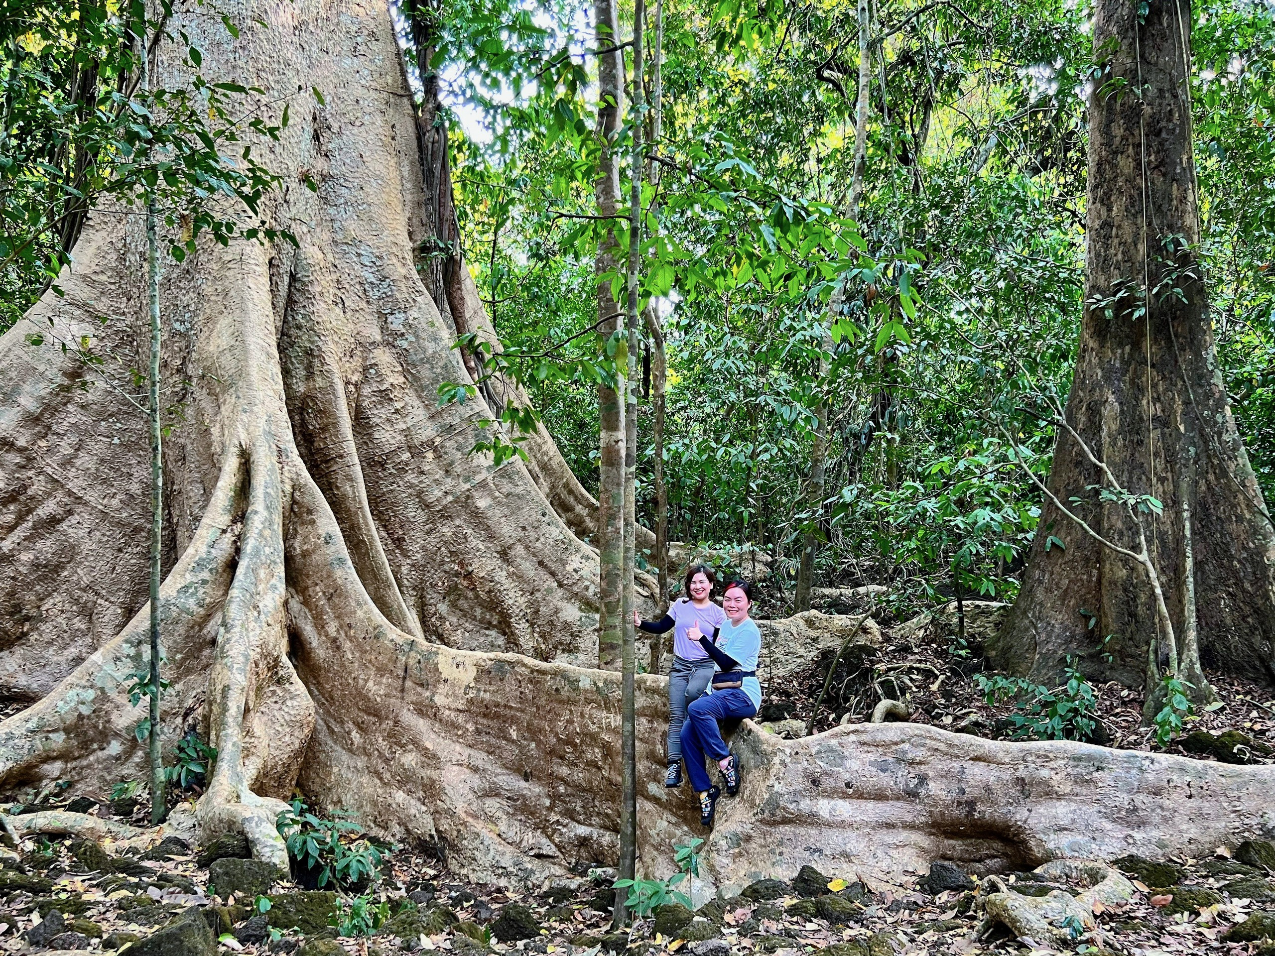
[[[110,851],[110,845],[106,849]],[[1275,853],[1275,848],[1271,851]],[[329,927],[311,925],[307,933],[296,928],[272,931],[270,911],[264,918],[250,919],[256,900],[246,896],[231,899],[226,908],[226,900],[208,896],[208,871],[196,863],[194,851],[176,851],[168,859],[149,862],[126,855],[106,857],[106,865],[96,872],[82,863],[84,857],[83,849],[71,854],[69,840],[28,841],[22,854],[5,853],[0,859],[0,881],[6,888],[0,890],[0,899],[8,899],[0,905],[0,952],[56,951],[47,941],[32,946],[22,938],[55,909],[64,914],[66,932],[80,933],[80,941],[55,937],[55,945],[65,947],[71,942],[89,951],[110,951],[107,947],[129,938],[122,934],[147,937],[164,932],[166,923],[180,922],[193,908],[200,914],[196,918],[205,922],[228,920],[218,927],[223,932],[218,947],[222,953],[390,956],[444,950],[459,956],[514,951],[560,956],[602,956],[606,952],[632,956],[742,956],[752,952],[940,956],[1034,951],[1155,956],[1272,951],[1270,945],[1261,948],[1261,942],[1228,939],[1252,936],[1246,931],[1233,932],[1232,927],[1260,913],[1264,905],[1275,908],[1275,881],[1265,871],[1227,857],[1170,860],[1169,865],[1159,868],[1126,860],[1122,865],[1132,878],[1154,877],[1174,885],[1163,888],[1139,881],[1135,883],[1139,892],[1127,905],[1098,914],[1096,929],[1079,937],[1074,948],[1065,950],[1034,948],[1006,938],[1005,931],[997,928],[986,938],[977,938],[980,899],[1000,888],[992,880],[974,880],[969,890],[927,887],[924,880],[918,880],[915,887],[849,883],[841,888],[841,883],[834,882],[839,888],[835,894],[819,886],[822,880],[835,880],[835,874],[819,874],[813,888],[810,880],[805,885],[801,880],[794,885],[765,881],[733,900],[708,904],[700,910],[699,920],[685,923],[688,914],[678,914],[676,909],[658,910],[658,919],[639,919],[631,931],[615,934],[609,929],[609,871],[589,871],[578,878],[534,887],[532,892],[513,894],[464,883],[441,869],[436,859],[399,849],[388,858],[380,883],[366,891],[368,901],[388,904],[393,916],[389,924],[372,936],[338,938],[337,929]],[[849,880],[853,874],[844,877]],[[27,888],[15,888],[23,878],[28,880]],[[36,882],[29,882],[32,880]],[[40,885],[40,880],[50,885]],[[1026,873],[1007,874],[1003,880],[1010,888],[1019,887],[1030,895],[1049,888],[1076,891],[1076,887],[1043,886]],[[931,894],[931,888],[937,892]],[[298,892],[297,887],[277,885],[274,913],[284,909],[280,902],[284,897],[279,894],[286,891]],[[819,899],[810,899],[811,892],[819,892]],[[306,899],[321,902],[333,897],[309,894]],[[332,911],[339,906],[348,913],[349,899],[343,897]],[[510,904],[527,910],[515,908],[513,915],[518,919],[506,919]],[[416,913],[407,911],[412,909]],[[1275,916],[1271,920],[1275,922]],[[1244,925],[1252,928],[1261,922],[1257,916]],[[521,925],[530,938],[516,942],[501,941],[499,936],[491,938],[501,925],[511,923]],[[435,932],[395,936],[397,931],[411,933],[422,925]],[[660,928],[664,932],[659,932]],[[203,956],[204,952],[212,950],[189,950],[184,956]]]

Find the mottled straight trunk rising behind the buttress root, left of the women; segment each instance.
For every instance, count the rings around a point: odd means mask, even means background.
[[[613,47],[620,31],[615,0],[597,0],[594,5],[597,45]],[[622,54],[612,51],[598,57],[598,159],[595,184],[598,215],[615,217],[620,201],[620,166],[615,139],[620,130]],[[604,222],[603,240],[598,243],[598,330],[603,338],[623,328],[620,303],[611,294],[609,275],[616,272],[616,240],[613,221]],[[602,278],[602,277],[607,278]],[[598,665],[611,670],[622,665],[623,656],[623,549],[625,549],[625,370],[617,368],[618,387],[598,386],[601,419],[598,455]]]

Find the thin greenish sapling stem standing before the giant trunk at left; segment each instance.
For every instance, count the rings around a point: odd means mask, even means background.
[[[150,56],[145,42],[145,22],[140,36],[142,88],[150,92]],[[163,542],[163,438],[159,423],[159,243],[156,236],[156,196],[147,190],[147,312],[150,320],[150,382],[148,418],[150,426],[150,669],[147,681],[149,693],[149,755],[150,755],[150,822],[162,823],[167,815],[163,781],[163,755],[161,752],[159,723],[159,570]]]

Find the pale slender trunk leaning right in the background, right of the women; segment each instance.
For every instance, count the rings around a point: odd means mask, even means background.
[[[847,215],[858,219],[859,201],[863,198],[863,173],[867,167],[868,150],[868,93],[872,84],[872,56],[868,37],[868,0],[859,0],[859,85],[854,106],[854,173],[850,178],[850,199]],[[827,376],[827,356],[833,351],[831,328],[836,314],[844,302],[845,291],[839,288],[833,293],[824,314],[822,334],[819,356],[820,389],[825,387]],[[793,612],[810,611],[811,589],[815,586],[815,554],[819,551],[817,523],[824,511],[824,475],[827,461],[827,400],[822,395],[815,405],[815,441],[810,450],[810,477],[806,483],[806,506],[815,512],[811,526],[802,534],[801,563],[797,567],[797,588],[793,595]]]

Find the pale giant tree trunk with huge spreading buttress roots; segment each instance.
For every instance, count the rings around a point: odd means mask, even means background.
[[[487,409],[437,405],[464,368],[412,257],[419,152],[389,17],[349,0],[231,13],[233,45],[208,18],[170,27],[221,64],[214,79],[251,76],[266,97],[303,79],[326,106],[297,99],[270,149],[288,184],[272,215],[300,250],[205,245],[161,289],[164,377],[189,382],[164,453],[164,738],[194,725],[219,751],[203,836],[241,830],[286,862],[274,820],[300,786],[388,839],[441,844],[478,881],[611,863],[621,678],[564,663],[597,653],[597,560],[516,459],[468,454]],[[0,338],[0,673],[34,701],[0,723],[8,794],[103,793],[147,765],[127,695],[148,644],[144,422],[24,342],[51,321],[144,354],[143,249],[134,217],[94,214],[65,298]],[[666,693],[638,677],[640,767],[663,765]],[[780,742],[746,723],[736,746],[745,788],[706,848],[710,888],[802,863],[899,881],[936,857],[1198,855],[1275,820],[1270,767],[904,724]],[[669,872],[694,815],[685,793],[641,788],[645,872]]]

